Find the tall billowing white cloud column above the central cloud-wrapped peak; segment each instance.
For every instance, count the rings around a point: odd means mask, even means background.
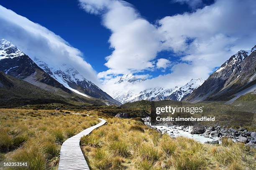
[[[105,63],[109,70],[100,72],[98,76],[138,72],[154,67],[154,62],[151,60],[161,48],[160,35],[155,26],[141,18],[127,2],[118,0],[100,2],[80,0],[80,6],[87,12],[90,6],[89,12],[101,13],[103,25],[112,32],[109,42],[114,51],[106,57]],[[99,9],[105,10],[100,12]]]

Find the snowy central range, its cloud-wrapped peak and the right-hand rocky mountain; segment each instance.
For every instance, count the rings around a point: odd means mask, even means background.
[[[177,100],[187,102],[225,101],[232,103],[241,95],[256,93],[256,46],[251,50],[240,50],[232,55],[221,67],[213,72],[207,80],[192,79],[182,87],[155,87],[138,93],[129,91],[115,92],[113,97],[119,102],[139,100]],[[132,74],[124,75],[121,82],[141,82]]]

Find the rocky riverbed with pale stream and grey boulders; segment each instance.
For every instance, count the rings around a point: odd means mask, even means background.
[[[221,144],[221,138],[230,138],[234,143],[241,142],[256,148],[256,132],[245,128],[228,128],[226,126],[151,126],[150,117],[143,118],[146,125],[161,133],[168,133],[172,137],[185,136],[200,141],[201,143]]]

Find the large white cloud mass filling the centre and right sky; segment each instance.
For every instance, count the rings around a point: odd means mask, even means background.
[[[188,3],[192,8],[202,5],[202,0],[175,0],[178,1]],[[213,68],[231,55],[241,49],[249,50],[256,43],[254,0],[216,0],[192,13],[166,16],[156,25],[141,18],[132,5],[123,1],[108,0],[107,4],[101,3],[99,7],[100,1],[97,0],[80,2],[82,6],[89,5],[97,11],[104,9],[97,14],[102,16],[103,25],[112,32],[109,42],[114,51],[105,63],[109,70],[100,72],[99,77],[150,70],[154,67],[157,52],[162,50],[182,56],[178,60],[180,63],[172,66],[172,72],[136,84],[136,88],[174,87],[191,78],[207,78]],[[111,93],[108,90],[111,83],[105,82],[103,87]],[[122,88],[135,87],[128,85]]]

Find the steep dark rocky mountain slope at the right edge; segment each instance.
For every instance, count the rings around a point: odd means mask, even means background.
[[[255,90],[256,46],[249,51],[240,50],[232,55],[200,87],[185,98],[185,101],[232,101]]]

